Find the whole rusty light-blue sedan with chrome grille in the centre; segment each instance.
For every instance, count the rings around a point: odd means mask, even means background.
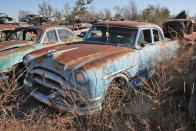
[[[156,62],[176,57],[178,48],[178,41],[165,39],[155,24],[97,23],[82,42],[26,55],[24,84],[35,99],[84,115],[101,109],[113,80],[122,78],[130,89],[136,87],[152,75],[148,69]]]

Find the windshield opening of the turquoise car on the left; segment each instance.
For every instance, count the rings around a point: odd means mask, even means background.
[[[41,36],[41,30],[38,29],[21,29],[15,30],[8,36],[8,41],[10,40],[25,40],[38,42]]]

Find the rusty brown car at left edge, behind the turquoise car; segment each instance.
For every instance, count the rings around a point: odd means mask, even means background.
[[[0,42],[4,41],[6,39],[6,36],[8,36],[8,34],[18,28],[18,25],[0,25]]]

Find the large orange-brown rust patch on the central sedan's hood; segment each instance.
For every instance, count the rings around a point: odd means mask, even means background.
[[[60,63],[69,63],[69,66],[76,66],[82,62],[85,61],[93,61],[93,59],[98,59],[100,62],[106,62],[103,61],[103,59],[108,60],[115,60],[120,56],[123,56],[127,53],[133,52],[133,49],[131,48],[123,48],[123,47],[117,47],[117,46],[111,46],[111,45],[94,45],[94,44],[76,44],[76,45],[68,45],[67,48],[75,48],[78,47],[78,49],[69,51],[69,52],[62,52],[59,56],[57,56],[56,60]],[[87,62],[88,63],[88,62]],[[96,65],[97,64],[97,65]],[[98,66],[100,65],[99,62],[92,63],[92,66]],[[88,67],[86,67],[88,68]]]

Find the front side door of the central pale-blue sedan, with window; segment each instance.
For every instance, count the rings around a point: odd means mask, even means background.
[[[136,45],[136,52],[139,55],[139,71],[137,76],[140,81],[147,79],[153,74],[151,68],[156,65],[156,57],[159,55],[159,48],[154,44],[152,29],[142,29]]]

